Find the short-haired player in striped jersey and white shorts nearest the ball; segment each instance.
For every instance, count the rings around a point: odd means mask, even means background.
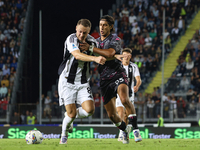
[[[89,35],[91,23],[81,19],[76,25],[76,33],[69,35],[64,44],[64,60],[59,66],[58,93],[59,104],[66,109],[62,123],[60,144],[67,144],[68,132],[77,118],[91,116],[94,113],[94,100],[89,86],[89,63],[95,61],[104,65],[103,56],[91,56],[90,51],[82,52],[80,43],[96,46],[95,39]],[[76,108],[75,101],[82,107]]]

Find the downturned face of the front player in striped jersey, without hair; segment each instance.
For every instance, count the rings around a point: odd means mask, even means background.
[[[85,42],[87,35],[90,33],[89,27],[84,27],[83,25],[76,26],[76,36],[81,42]]]

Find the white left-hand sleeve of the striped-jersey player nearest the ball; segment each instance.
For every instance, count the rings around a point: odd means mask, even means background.
[[[73,36],[68,36],[66,42],[65,42],[65,48],[68,50],[70,53],[79,50],[77,43],[75,43],[75,39]]]

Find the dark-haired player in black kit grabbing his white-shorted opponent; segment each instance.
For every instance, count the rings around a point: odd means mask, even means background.
[[[121,64],[121,61],[115,58],[116,54],[119,55],[121,53],[121,40],[117,35],[112,34],[113,26],[113,17],[109,15],[103,16],[99,22],[101,36],[97,39],[98,48],[87,43],[81,44],[81,48],[83,50],[89,49],[89,51],[107,58],[106,63],[104,65],[99,65],[98,67],[102,99],[108,117],[115,126],[123,131],[123,143],[127,144],[129,143],[129,133],[131,129],[119,117],[119,115],[117,115],[115,106],[117,94],[126,108],[129,122],[133,126],[135,141],[141,141],[142,139],[137,126],[135,108],[129,100],[126,71]]]

